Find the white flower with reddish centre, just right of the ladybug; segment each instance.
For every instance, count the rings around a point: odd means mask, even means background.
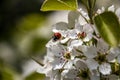
[[[71,18],[71,16],[75,14],[76,17]],[[78,19],[79,17],[80,19]],[[93,33],[92,25],[87,24],[86,21],[84,21],[84,25],[81,24],[81,18],[83,17],[80,16],[79,12],[70,12],[68,17],[68,24],[65,22],[56,23],[53,25],[53,32],[59,32],[65,38],[77,39],[81,37],[84,38],[83,41],[89,41],[92,38]],[[70,25],[73,25],[72,29],[69,28]]]

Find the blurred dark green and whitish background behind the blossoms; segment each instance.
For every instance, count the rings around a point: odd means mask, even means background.
[[[44,75],[35,72],[39,64],[32,58],[43,60],[51,25],[67,22],[68,11],[41,12],[43,1],[0,0],[0,80],[44,80]],[[96,9],[119,3],[97,0]]]

